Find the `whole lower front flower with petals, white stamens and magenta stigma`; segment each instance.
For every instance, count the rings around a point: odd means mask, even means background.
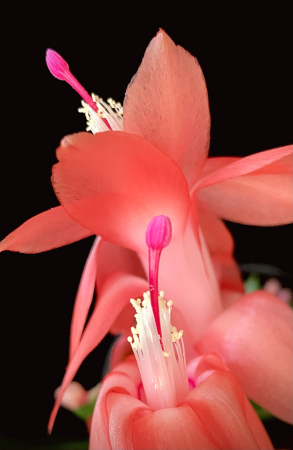
[[[232,373],[215,354],[186,369],[183,330],[172,325],[173,302],[158,289],[161,251],[171,238],[167,217],[146,232],[150,290],[131,299],[135,359],[118,364],[102,383],[90,449],[271,449],[266,431]]]

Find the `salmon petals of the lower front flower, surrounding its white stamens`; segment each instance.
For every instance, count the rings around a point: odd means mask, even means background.
[[[272,444],[234,375],[215,354],[196,358],[196,387],[175,408],[151,410],[139,398],[135,360],[104,379],[90,433],[90,449],[271,449]]]

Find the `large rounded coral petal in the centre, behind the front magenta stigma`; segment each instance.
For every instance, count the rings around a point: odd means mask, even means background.
[[[93,233],[138,250],[152,217],[182,233],[190,207],[186,180],[171,158],[124,132],[68,136],[57,151],[53,186],[68,214]]]

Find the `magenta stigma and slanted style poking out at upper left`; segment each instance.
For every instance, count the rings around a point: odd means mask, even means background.
[[[59,55],[59,53],[48,48],[46,52],[46,63],[48,69],[55,78],[57,78],[58,80],[66,81],[66,83],[68,83],[96,113],[99,112],[99,109],[91,96],[79,83],[79,81],[77,81],[75,76],[72,75],[69,70],[69,65],[67,64],[65,59],[63,59],[62,56]],[[109,130],[111,130],[107,119],[104,117],[101,117],[101,119],[107,125]]]

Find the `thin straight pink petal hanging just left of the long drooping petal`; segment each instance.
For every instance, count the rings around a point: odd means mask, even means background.
[[[93,300],[97,277],[97,254],[100,242],[101,238],[97,237],[91,248],[79,282],[71,320],[69,358],[72,358],[77,350]]]

